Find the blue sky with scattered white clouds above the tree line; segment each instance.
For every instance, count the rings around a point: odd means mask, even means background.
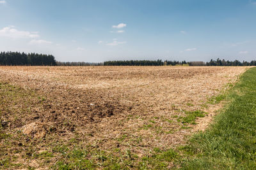
[[[0,0],[0,51],[59,61],[256,60],[256,0]]]

